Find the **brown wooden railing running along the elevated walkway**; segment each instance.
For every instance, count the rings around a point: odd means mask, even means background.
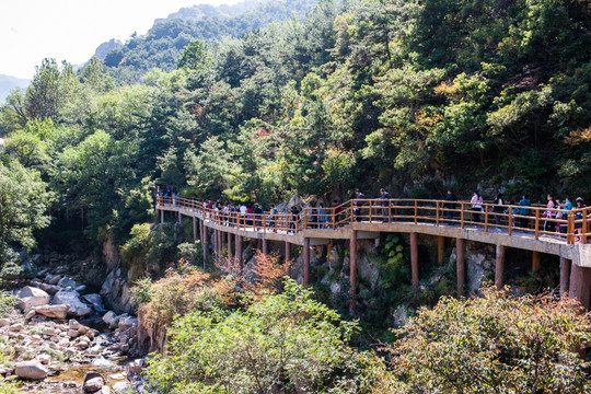
[[[499,232],[513,236],[532,236],[553,242],[587,243],[591,240],[591,208],[547,209],[482,204],[482,210],[467,201],[431,199],[354,199],[336,207],[306,207],[292,213],[242,213],[207,208],[202,200],[157,196],[157,208],[175,208],[196,212],[218,225],[241,230],[298,233],[302,230],[337,230],[352,222],[414,223],[444,225]],[[528,213],[529,212],[529,213]],[[528,215],[523,215],[528,213]]]

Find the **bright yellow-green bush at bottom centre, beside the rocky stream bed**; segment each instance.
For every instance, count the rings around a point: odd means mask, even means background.
[[[370,393],[383,363],[348,346],[355,322],[286,279],[247,310],[193,312],[146,376],[160,393]]]

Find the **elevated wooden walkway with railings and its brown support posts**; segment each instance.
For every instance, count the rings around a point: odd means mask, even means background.
[[[548,210],[545,207],[517,207],[483,204],[475,211],[467,201],[429,199],[355,199],[337,207],[303,208],[298,215],[241,215],[207,208],[201,200],[157,196],[157,210],[164,221],[164,211],[194,219],[194,237],[202,240],[207,255],[208,229],[215,232],[215,251],[221,251],[228,240],[229,257],[242,258],[243,237],[260,240],[263,253],[268,241],[286,243],[286,258],[291,245],[303,246],[304,282],[310,279],[311,245],[327,244],[332,240],[349,240],[351,260],[351,308],[355,308],[357,286],[357,240],[378,239],[382,232],[409,233],[413,283],[418,286],[417,234],[438,237],[439,260],[443,259],[444,239],[455,239],[457,255],[457,288],[465,285],[464,242],[494,244],[497,248],[496,285],[503,285],[505,248],[532,252],[532,269],[540,268],[540,254],[560,257],[560,289],[570,291],[589,308],[591,288],[591,209]],[[322,209],[322,210],[320,210]],[[522,209],[526,213],[521,215]],[[551,215],[548,215],[548,211]],[[199,225],[198,225],[199,223]],[[197,228],[199,227],[199,231]],[[235,254],[232,252],[234,237]]]

